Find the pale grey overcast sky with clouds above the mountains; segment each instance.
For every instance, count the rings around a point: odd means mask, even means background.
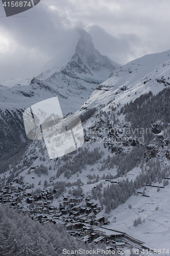
[[[125,64],[170,49],[169,0],[41,0],[5,16],[0,2],[0,80],[32,78],[84,28],[101,54]]]

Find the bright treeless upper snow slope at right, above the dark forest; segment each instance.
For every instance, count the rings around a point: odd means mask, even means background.
[[[169,65],[170,50],[130,61],[114,70],[110,78],[96,88],[85,104],[87,108],[91,108],[114,100],[115,105],[124,105],[149,91],[157,94],[170,84]]]

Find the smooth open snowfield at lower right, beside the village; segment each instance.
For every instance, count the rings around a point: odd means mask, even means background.
[[[154,185],[158,185],[155,183]],[[162,186],[162,184],[160,184]],[[138,191],[143,191],[143,188]],[[126,232],[130,236],[147,243],[150,248],[169,248],[170,240],[170,185],[161,188],[147,186],[145,195],[132,196],[123,205],[112,210],[109,215],[110,225],[106,228]],[[128,205],[132,205],[132,209]],[[155,210],[158,206],[158,210]],[[98,214],[100,215],[100,213]],[[141,218],[142,223],[133,226],[134,220]],[[116,218],[116,222],[114,223]],[[143,222],[144,220],[144,222]]]

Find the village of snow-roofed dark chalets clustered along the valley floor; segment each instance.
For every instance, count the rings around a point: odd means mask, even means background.
[[[16,208],[22,214],[28,214],[41,225],[49,222],[62,224],[71,236],[78,237],[84,243],[105,243],[107,248],[114,250],[127,246],[125,240],[131,241],[125,233],[116,232],[110,235],[101,232],[100,227],[109,222],[104,216],[96,216],[103,210],[103,206],[98,206],[90,198],[86,198],[83,205],[82,197],[63,196],[63,201],[57,208],[52,205],[55,189],[44,189],[33,195],[31,191],[26,193],[26,188],[31,188],[28,183],[10,185],[12,186],[5,186],[0,190],[0,203]]]

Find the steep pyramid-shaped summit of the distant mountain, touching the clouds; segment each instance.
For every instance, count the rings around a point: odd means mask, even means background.
[[[64,54],[57,55],[48,61],[38,79],[46,79],[56,72],[61,72],[70,77],[81,76],[82,78],[85,75],[88,79],[98,79],[102,82],[117,68],[107,56],[101,55],[94,48],[91,36],[84,29],[78,29],[77,34],[74,45],[70,46]],[[105,73],[104,77],[99,74],[101,72]]]

